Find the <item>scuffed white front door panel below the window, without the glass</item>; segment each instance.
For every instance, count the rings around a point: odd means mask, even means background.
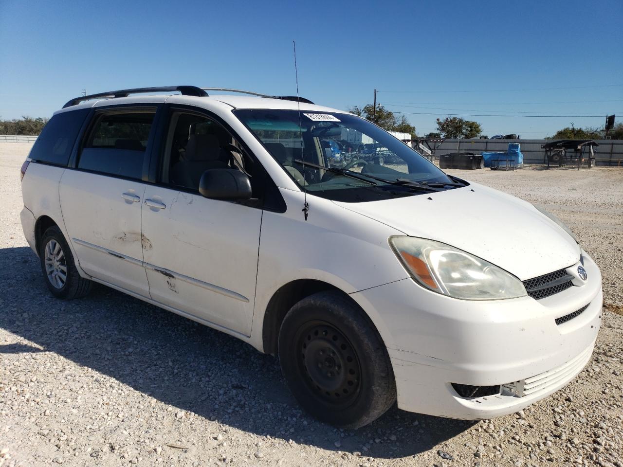
[[[261,220],[259,209],[148,187],[142,229],[152,300],[249,336]]]

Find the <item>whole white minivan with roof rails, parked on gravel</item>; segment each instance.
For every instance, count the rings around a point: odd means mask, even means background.
[[[589,361],[601,275],[556,217],[351,113],[206,91],[107,92],[52,116],[21,221],[54,296],[98,282],[276,354],[339,427],[396,401],[513,413]]]

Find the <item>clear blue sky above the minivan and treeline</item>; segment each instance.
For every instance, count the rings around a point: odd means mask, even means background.
[[[300,93],[316,103],[365,105],[377,88],[419,134],[437,116],[564,115],[464,116],[489,136],[541,138],[623,121],[622,24],[621,0],[0,0],[0,117],[50,116],[83,88],[292,95],[294,39]]]

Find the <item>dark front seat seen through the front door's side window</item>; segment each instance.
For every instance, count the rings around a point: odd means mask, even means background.
[[[221,160],[219,139],[214,134],[191,134],[186,144],[184,160],[171,168],[171,183],[198,189],[203,172],[209,169],[227,169]]]

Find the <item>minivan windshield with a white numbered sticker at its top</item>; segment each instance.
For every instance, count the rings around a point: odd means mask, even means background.
[[[308,194],[363,202],[459,185],[407,144],[358,116],[264,109],[234,113]]]

